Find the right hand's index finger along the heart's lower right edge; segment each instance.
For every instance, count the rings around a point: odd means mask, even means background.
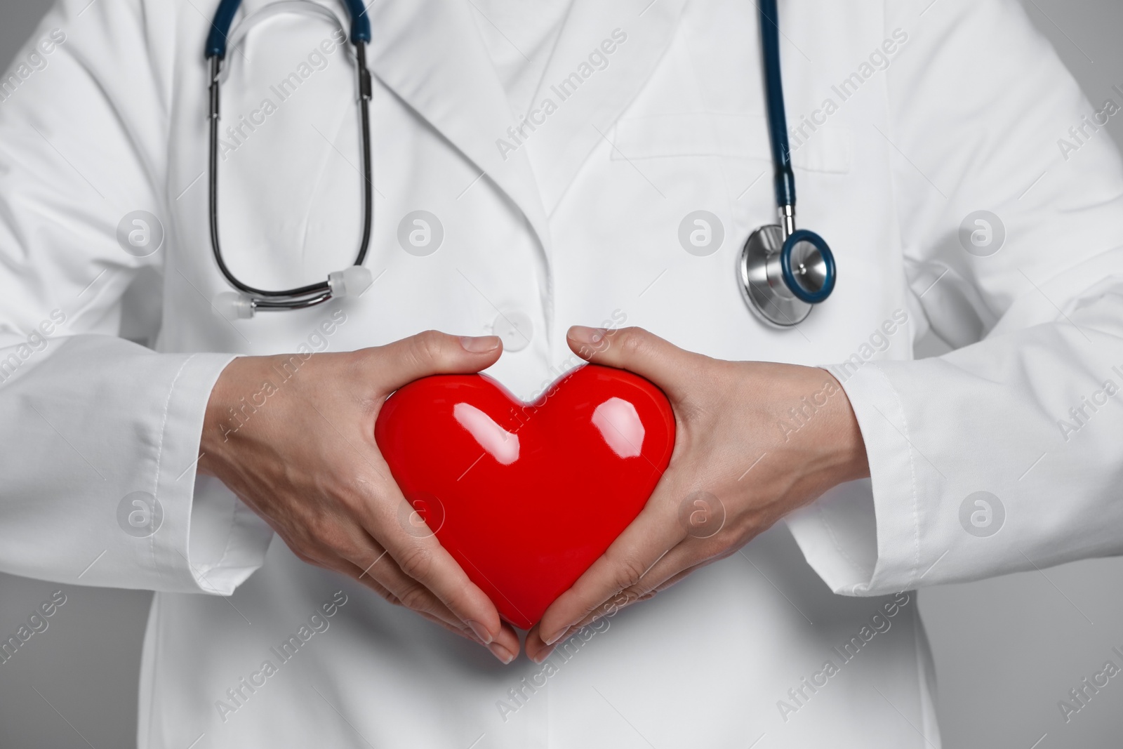
[[[549,605],[539,622],[542,641],[554,643],[566,629],[595,612],[605,601],[638,585],[656,563],[686,537],[670,501],[672,496],[681,495],[672,488],[674,485],[675,476],[670,472],[664,474],[636,520],[568,591]]]

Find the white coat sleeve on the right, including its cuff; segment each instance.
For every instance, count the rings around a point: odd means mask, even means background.
[[[1123,92],[1089,103],[1013,0],[886,8],[910,36],[884,134],[910,319],[951,350],[843,380],[870,479],[789,528],[851,595],[1117,555],[1123,168],[1102,126]],[[977,210],[998,222],[971,254]]]

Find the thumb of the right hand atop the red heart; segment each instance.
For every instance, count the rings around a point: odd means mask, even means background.
[[[593,364],[634,372],[669,394],[683,382],[684,369],[696,367],[692,354],[642,328],[586,328],[573,326],[566,334],[574,354]]]

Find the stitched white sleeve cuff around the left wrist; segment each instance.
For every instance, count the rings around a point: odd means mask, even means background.
[[[207,402],[234,358],[190,357],[167,398],[157,463],[165,527],[152,537],[159,590],[230,595],[265,561],[272,529],[220,481],[197,476]]]

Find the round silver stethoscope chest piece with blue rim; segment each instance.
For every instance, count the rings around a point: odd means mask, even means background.
[[[834,257],[823,238],[806,229],[784,235],[776,223],[760,227],[737,261],[746,304],[776,328],[803,322],[834,289]]]

